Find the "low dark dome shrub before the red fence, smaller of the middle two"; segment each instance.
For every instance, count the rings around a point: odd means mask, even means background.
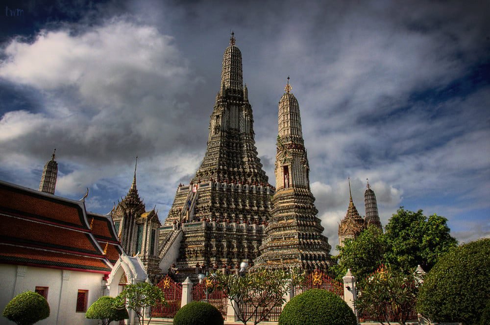
[[[173,325],[223,325],[220,311],[207,302],[191,302],[177,311]]]

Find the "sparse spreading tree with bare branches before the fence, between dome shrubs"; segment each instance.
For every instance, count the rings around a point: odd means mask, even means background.
[[[246,325],[265,321],[274,307],[282,306],[284,298],[292,287],[304,280],[297,270],[259,269],[243,277],[235,275],[216,275],[217,287],[232,302],[238,319]],[[248,312],[245,313],[245,307]]]

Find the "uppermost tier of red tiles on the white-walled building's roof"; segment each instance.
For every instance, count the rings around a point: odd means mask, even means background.
[[[28,217],[54,221],[64,225],[87,229],[82,208],[61,198],[37,194],[0,183],[2,210],[21,212]]]

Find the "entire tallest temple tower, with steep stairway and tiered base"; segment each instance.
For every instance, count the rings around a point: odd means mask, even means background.
[[[235,267],[258,255],[274,188],[255,147],[252,108],[243,86],[242,54],[232,33],[220,92],[209,122],[204,159],[189,185],[180,185],[160,232],[161,257],[183,231],[177,278],[202,266]],[[167,248],[166,248],[167,247]]]

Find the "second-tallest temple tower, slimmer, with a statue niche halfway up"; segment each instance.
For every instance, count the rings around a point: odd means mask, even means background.
[[[299,104],[291,85],[279,101],[279,135],[275,161],[276,192],[267,239],[255,267],[326,269],[331,264],[328,239],[317,218],[310,191],[309,165],[301,131]]]

